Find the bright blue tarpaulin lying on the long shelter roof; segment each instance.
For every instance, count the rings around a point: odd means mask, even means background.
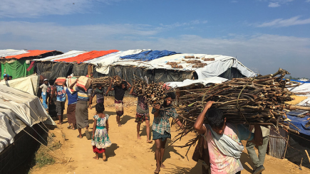
[[[175,55],[175,54],[180,54],[180,53],[176,53],[174,51],[169,51],[169,50],[148,50],[148,51],[144,51],[143,53],[138,53],[135,55],[125,55],[120,58],[150,61],[150,60],[155,60],[157,58],[165,57],[167,55]]]

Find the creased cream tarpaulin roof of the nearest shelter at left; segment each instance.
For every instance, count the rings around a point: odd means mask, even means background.
[[[13,143],[14,136],[25,126],[43,121],[45,124],[56,125],[38,97],[0,85],[0,152],[9,143]]]

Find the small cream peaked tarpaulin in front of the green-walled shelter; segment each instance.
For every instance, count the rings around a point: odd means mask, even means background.
[[[28,92],[29,94],[36,95],[36,92],[38,90],[38,80],[38,75],[30,75],[28,77],[21,77],[14,80],[2,80],[0,82],[0,85],[6,85],[8,87],[13,87],[15,89]]]

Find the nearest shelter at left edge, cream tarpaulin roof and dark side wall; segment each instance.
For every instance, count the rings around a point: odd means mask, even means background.
[[[56,125],[38,97],[0,85],[0,173],[11,173],[31,156],[38,144],[33,137],[39,140],[44,132],[42,122]]]

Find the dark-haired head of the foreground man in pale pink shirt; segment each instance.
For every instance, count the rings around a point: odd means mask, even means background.
[[[224,134],[224,129],[226,127],[226,117],[221,109],[210,109],[206,113],[208,124],[211,126],[212,130],[217,134]]]

